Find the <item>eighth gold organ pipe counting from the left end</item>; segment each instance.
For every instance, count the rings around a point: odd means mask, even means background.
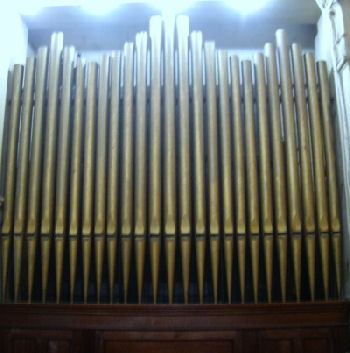
[[[107,182],[107,110],[110,58],[103,55],[100,64],[97,106],[97,153],[95,180],[94,243],[96,261],[97,302],[101,298],[103,259],[106,234],[106,182]]]

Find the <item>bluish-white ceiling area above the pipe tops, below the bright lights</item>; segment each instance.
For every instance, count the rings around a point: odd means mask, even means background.
[[[182,13],[190,17],[190,30],[203,31],[205,40],[215,40],[219,48],[240,49],[262,48],[274,40],[278,28],[288,31],[290,42],[312,48],[320,16],[315,0],[270,0],[264,9],[245,17],[220,1],[199,2]],[[147,30],[155,14],[159,11],[145,3],[129,3],[103,16],[72,6],[45,8],[23,19],[33,49],[49,44],[52,32],[63,31],[65,44],[86,51],[121,49],[138,31]]]

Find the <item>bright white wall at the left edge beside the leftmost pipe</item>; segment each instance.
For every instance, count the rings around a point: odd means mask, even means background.
[[[28,29],[20,15],[9,5],[3,4],[0,11],[0,139],[7,89],[7,73],[13,64],[24,64],[27,56]],[[0,144],[0,153],[1,153]]]

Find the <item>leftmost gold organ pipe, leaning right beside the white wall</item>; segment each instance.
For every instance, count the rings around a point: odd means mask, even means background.
[[[20,121],[21,92],[22,92],[23,66],[15,65],[13,68],[11,109],[8,125],[7,158],[4,189],[4,211],[1,227],[1,253],[2,253],[2,301],[6,299],[7,272],[10,257],[10,246],[13,232],[13,215],[15,202],[15,176],[17,160],[17,143]]]

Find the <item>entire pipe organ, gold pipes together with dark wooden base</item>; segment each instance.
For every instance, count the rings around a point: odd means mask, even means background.
[[[328,71],[152,17],[85,62],[54,33],[9,75],[1,352],[349,348]]]

